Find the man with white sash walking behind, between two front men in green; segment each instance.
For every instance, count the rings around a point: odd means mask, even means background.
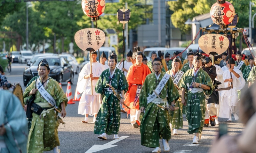
[[[167,74],[171,75],[172,81],[177,86],[180,85],[181,78],[184,75],[183,71],[180,71],[180,59],[174,58],[172,61],[172,69],[166,72]],[[171,131],[173,128],[173,134],[178,135],[178,129],[183,127],[183,116],[182,116],[182,107],[183,104],[181,100],[175,100],[175,107],[179,107],[178,110],[169,111],[169,120],[170,120],[170,127]]]

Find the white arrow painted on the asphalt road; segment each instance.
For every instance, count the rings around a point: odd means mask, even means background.
[[[112,145],[116,142],[119,142],[125,138],[127,138],[129,136],[121,136],[119,139],[115,139],[113,141],[110,141],[106,144],[103,144],[103,145],[99,145],[99,144],[96,144],[96,145],[93,145],[92,148],[90,148],[89,150],[87,150],[85,153],[93,153],[93,152],[97,152],[97,151],[100,151],[100,150],[104,150],[104,149],[108,149],[108,148],[111,148],[111,147],[115,147],[116,145]]]

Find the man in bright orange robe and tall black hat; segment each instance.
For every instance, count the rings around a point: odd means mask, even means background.
[[[129,106],[131,110],[123,106],[124,110],[131,116],[131,124],[134,128],[140,126],[140,106],[139,95],[142,84],[144,83],[148,74],[151,73],[146,64],[142,63],[142,52],[136,52],[136,63],[132,65],[127,73],[126,80],[129,84],[127,96],[124,99],[124,104]]]

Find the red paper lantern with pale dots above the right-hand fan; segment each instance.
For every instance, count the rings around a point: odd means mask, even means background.
[[[228,24],[234,19],[234,16],[235,8],[231,3],[225,0],[217,0],[217,3],[212,5],[212,21],[215,24],[220,25],[220,28],[228,28]]]

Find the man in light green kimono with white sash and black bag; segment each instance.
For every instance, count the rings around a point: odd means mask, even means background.
[[[23,95],[24,101],[26,101],[31,95],[35,94],[36,98],[34,103],[41,106],[43,109],[40,115],[32,113],[32,124],[28,134],[27,152],[43,153],[44,151],[53,149],[54,153],[59,153],[58,120],[61,119],[57,118],[54,110],[58,109],[58,111],[61,111],[60,114],[64,118],[66,116],[65,107],[67,106],[68,98],[60,88],[59,83],[48,78],[50,67],[45,59],[40,62],[38,72],[40,78],[33,81],[32,84],[26,88]],[[42,85],[39,86],[39,84]],[[48,95],[47,97],[49,99],[44,97],[40,92],[44,92],[44,95]],[[50,101],[53,101],[55,106],[53,106],[52,103],[50,104]],[[25,111],[27,111],[27,109],[31,108],[25,106]]]

